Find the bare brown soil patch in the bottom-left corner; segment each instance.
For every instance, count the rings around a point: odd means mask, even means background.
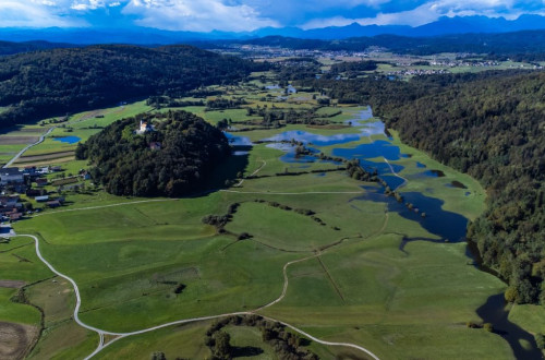
[[[37,335],[34,326],[0,322],[0,359],[23,359]]]

